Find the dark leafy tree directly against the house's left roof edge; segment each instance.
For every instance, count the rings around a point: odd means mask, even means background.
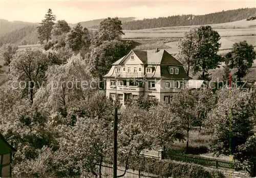
[[[130,42],[116,40],[103,42],[102,45],[94,48],[87,56],[90,72],[94,77],[102,81],[103,75],[109,72],[112,64],[126,55],[131,48],[132,44]]]

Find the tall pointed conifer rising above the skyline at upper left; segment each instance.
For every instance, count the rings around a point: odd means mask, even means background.
[[[40,23],[41,26],[37,27],[37,32],[39,34],[40,44],[44,44],[44,41],[48,43],[51,39],[51,31],[53,29],[54,21],[56,16],[52,14],[52,10],[48,9],[45,19]]]

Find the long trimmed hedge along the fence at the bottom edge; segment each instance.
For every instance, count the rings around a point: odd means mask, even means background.
[[[225,177],[219,170],[205,168],[200,165],[177,162],[173,160],[141,159],[140,163],[133,164],[134,170],[155,173],[168,177],[189,177],[189,178],[221,178]]]

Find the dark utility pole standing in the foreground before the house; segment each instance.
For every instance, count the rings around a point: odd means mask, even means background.
[[[117,120],[118,113],[117,108],[114,111],[114,167],[113,167],[113,178],[117,178]]]

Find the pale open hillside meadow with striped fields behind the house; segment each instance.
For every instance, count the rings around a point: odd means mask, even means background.
[[[211,24],[212,28],[219,32],[221,39],[221,48],[219,54],[225,54],[229,52],[234,43],[241,41],[247,41],[248,44],[253,45],[256,50],[256,20],[223,23],[223,24]],[[179,52],[177,47],[178,41],[184,36],[184,32],[188,31],[191,27],[198,26],[181,26],[181,27],[163,27],[154,29],[143,29],[143,30],[124,30],[125,35],[122,36],[125,40],[132,40],[138,43],[135,47],[136,50],[154,50],[155,48],[165,49],[171,54]],[[97,30],[97,29],[93,29]],[[18,46],[19,50],[24,50],[28,47],[37,48],[36,45],[22,45]],[[3,61],[0,61],[0,65],[3,66]],[[253,64],[256,67],[256,61]],[[4,67],[6,68],[6,67]],[[255,69],[255,68],[254,68]],[[256,81],[253,77],[254,70],[249,72],[250,81]],[[5,76],[0,75],[0,82],[3,81]],[[255,80],[254,80],[255,78]]]

